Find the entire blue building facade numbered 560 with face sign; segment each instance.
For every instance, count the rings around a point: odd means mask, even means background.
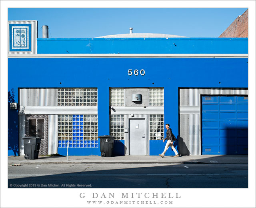
[[[36,25],[31,51],[8,36],[9,156],[24,136],[41,155],[100,155],[101,135],[114,155],[158,155],[166,123],[181,155],[248,154],[248,38],[36,38]]]

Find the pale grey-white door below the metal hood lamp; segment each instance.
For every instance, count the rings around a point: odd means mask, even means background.
[[[146,155],[146,120],[130,119],[130,155]]]

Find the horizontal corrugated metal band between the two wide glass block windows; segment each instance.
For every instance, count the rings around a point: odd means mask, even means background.
[[[20,106],[19,114],[98,114],[98,106]]]

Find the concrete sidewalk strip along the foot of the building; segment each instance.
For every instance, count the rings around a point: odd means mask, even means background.
[[[198,155],[198,156],[39,156],[37,160],[26,160],[24,156],[8,157],[11,164],[231,164],[248,163],[248,155]]]

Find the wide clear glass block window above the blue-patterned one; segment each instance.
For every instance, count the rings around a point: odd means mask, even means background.
[[[97,106],[97,88],[58,88],[58,106]]]

